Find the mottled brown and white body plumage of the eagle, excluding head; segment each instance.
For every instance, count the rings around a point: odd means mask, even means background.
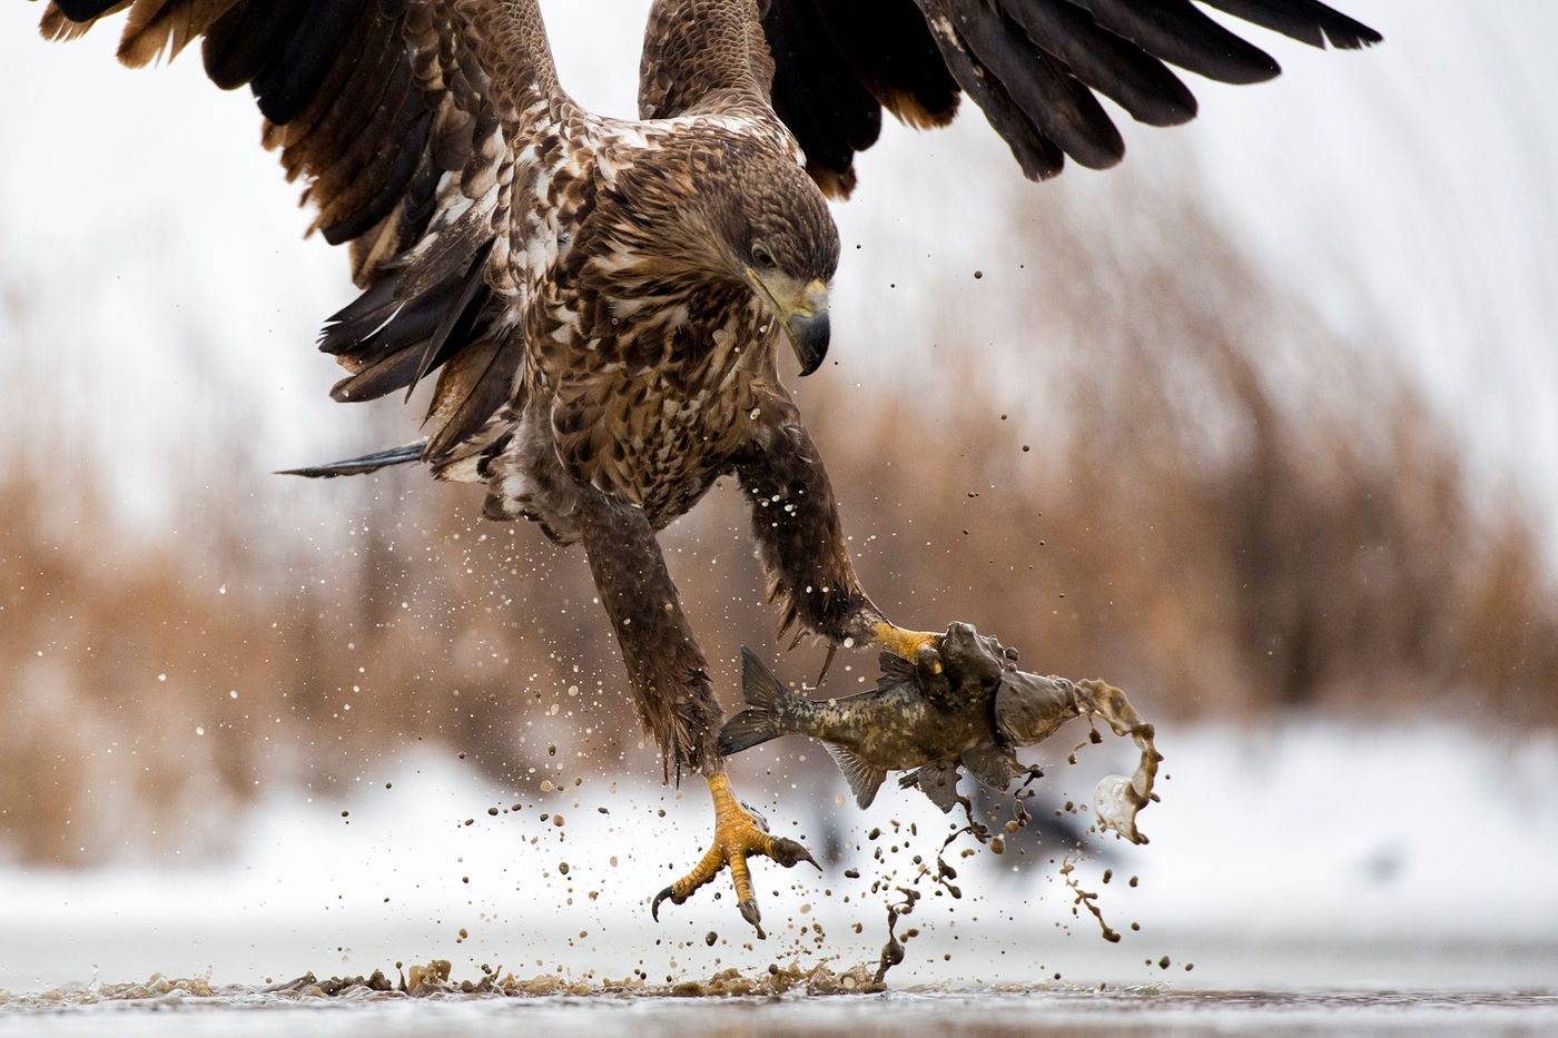
[[[489,281],[520,312],[525,360],[503,411],[519,435],[494,440],[502,457],[481,468],[488,514],[570,539],[566,480],[541,474],[552,454],[561,475],[642,507],[659,528],[788,407],[781,332],[749,285],[710,273],[695,203],[732,148],[782,148],[798,175],[799,151],[777,122],[745,115],[527,115],[527,143],[495,185],[508,235]]]

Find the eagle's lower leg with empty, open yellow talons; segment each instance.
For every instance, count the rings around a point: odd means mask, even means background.
[[[580,493],[578,519],[595,588],[628,666],[639,717],[659,742],[667,771],[675,762],[678,778],[684,770],[701,773],[714,796],[714,845],[692,873],[654,896],[651,912],[659,918],[661,901],[681,904],[729,867],[742,916],[762,937],[746,859],[762,854],[785,868],[801,860],[816,862],[795,840],[770,837],[731,792],[718,750],[720,704],[648,517],[636,505],[586,488]]]

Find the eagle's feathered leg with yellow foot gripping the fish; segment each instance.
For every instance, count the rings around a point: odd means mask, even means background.
[[[779,633],[799,625],[835,644],[871,641],[902,659],[938,648],[941,634],[891,623],[860,588],[834,486],[795,410],[763,433],[737,469],[753,502],[753,536],[768,600],[779,606]]]

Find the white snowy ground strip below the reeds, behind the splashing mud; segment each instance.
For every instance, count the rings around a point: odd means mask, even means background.
[[[919,935],[894,985],[1035,983],[1059,973],[1193,988],[1552,990],[1558,740],[1295,722],[1168,728],[1159,747],[1162,803],[1140,817],[1151,843],[1111,839],[1105,857],[1077,871],[1123,932],[1119,944],[1072,915],[1053,845],[1030,849],[1013,876],[1003,871],[1019,860],[1013,849],[960,860],[957,849],[974,846],[964,837],[949,854],[963,898],[921,884],[927,898],[899,927]],[[738,789],[759,789],[748,775],[756,762],[738,764]],[[1052,770],[1047,784],[1083,801],[1105,770],[1130,767],[1111,739],[1077,767]],[[647,898],[701,853],[701,782],[681,796],[594,775],[559,782],[567,789],[503,789],[453,754],[405,756],[365,768],[340,795],[274,790],[226,820],[237,839],[220,860],[3,867],[0,988],[154,973],[259,985],[307,971],[394,976],[397,962],[432,959],[450,959],[456,979],[488,963],[519,977],[642,969],[656,983],[770,962],[876,962],[883,906],[902,898],[871,893],[872,881],[908,884],[913,856],[933,860],[949,831],[913,790],[885,789],[868,812],[838,806],[841,782],[767,798],[779,831],[821,849],[835,826],[846,854],[821,876],[759,865],[770,930],[759,943],[728,891],[714,899],[723,881],[650,918]],[[874,842],[872,828],[882,829]],[[871,857],[877,846],[882,862]]]

